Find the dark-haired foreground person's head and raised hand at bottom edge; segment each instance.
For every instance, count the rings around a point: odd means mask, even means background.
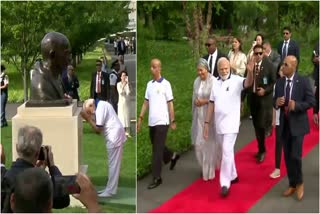
[[[73,196],[87,208],[88,213],[101,211],[96,190],[90,179],[82,173],[76,178],[81,191]],[[21,172],[10,197],[10,207],[15,213],[51,213],[54,186],[45,170],[32,167]]]

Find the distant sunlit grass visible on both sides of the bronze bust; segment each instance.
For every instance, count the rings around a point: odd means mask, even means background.
[[[80,82],[80,87],[78,90],[81,100],[89,98],[91,73],[96,69],[96,59],[103,56],[103,47],[103,41],[98,42],[96,46],[86,53],[82,62],[75,69]],[[111,56],[107,55],[107,58],[108,61],[110,61]],[[6,66],[6,72],[10,81],[8,102],[22,102],[24,96],[22,75],[16,70],[14,65],[3,61],[2,63],[4,63]]]

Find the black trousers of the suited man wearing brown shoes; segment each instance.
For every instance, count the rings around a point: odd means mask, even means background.
[[[304,136],[292,136],[289,122],[284,119],[283,127],[283,151],[288,172],[289,186],[303,183],[302,179],[302,143]]]

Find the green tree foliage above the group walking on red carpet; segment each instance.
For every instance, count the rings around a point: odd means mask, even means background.
[[[187,37],[196,57],[203,39],[217,31],[243,37],[248,31],[259,31],[273,40],[278,39],[275,35],[280,35],[281,28],[290,26],[295,37],[314,43],[319,32],[319,1],[139,2],[138,26],[139,38]]]

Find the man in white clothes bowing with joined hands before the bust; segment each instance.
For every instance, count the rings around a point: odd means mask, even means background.
[[[94,123],[91,115],[95,114]],[[90,123],[93,130],[103,133],[108,151],[109,176],[104,190],[99,191],[99,197],[111,197],[117,193],[123,144],[127,140],[124,127],[109,102],[88,99],[83,103],[81,116]]]

